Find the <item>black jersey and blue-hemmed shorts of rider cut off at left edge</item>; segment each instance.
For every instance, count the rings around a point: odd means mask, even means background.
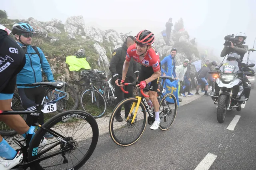
[[[25,53],[20,45],[0,30],[0,100],[12,99],[16,75],[25,63]]]

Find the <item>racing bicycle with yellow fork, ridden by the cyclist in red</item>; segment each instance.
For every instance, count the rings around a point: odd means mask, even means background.
[[[172,93],[165,93],[163,88],[164,82],[166,79],[170,79],[170,76],[161,76],[163,79],[163,83],[161,85],[160,91],[157,91],[158,94],[158,102],[159,104],[159,116],[160,116],[160,126],[161,130],[167,130],[171,127],[177,113],[177,100],[176,97]],[[124,83],[124,85],[136,86],[136,83]],[[121,87],[124,93],[128,93],[124,91],[123,87]],[[146,89],[145,90],[149,90]],[[163,93],[162,93],[163,92]],[[151,125],[155,121],[155,113],[153,107],[150,108],[146,99],[144,97],[149,97],[146,95],[143,90],[140,90],[139,95],[136,97],[130,97],[122,100],[118,105],[114,108],[112,115],[110,116],[109,121],[109,133],[112,140],[120,145],[120,146],[130,146],[134,144],[146,128],[146,122]],[[172,98],[173,103],[168,103],[166,101],[167,98]],[[116,113],[120,110],[124,111],[124,107],[130,107],[130,112],[125,116],[125,113],[121,113],[121,117],[124,119],[122,122],[115,121]],[[147,113],[148,117],[147,117]],[[115,124],[115,125],[114,125]]]

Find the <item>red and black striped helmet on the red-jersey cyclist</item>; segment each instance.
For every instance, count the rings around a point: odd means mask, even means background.
[[[140,31],[134,38],[135,42],[151,45],[155,41],[154,34],[149,30]]]

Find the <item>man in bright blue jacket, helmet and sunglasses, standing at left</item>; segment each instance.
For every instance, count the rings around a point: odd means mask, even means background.
[[[46,74],[49,82],[54,82],[54,77],[50,65],[39,47],[31,46],[34,29],[26,23],[14,24],[12,34],[15,35],[17,43],[24,49],[26,55],[26,64],[20,73],[17,74],[17,87],[22,101],[23,108],[26,111],[36,110],[39,103],[44,98],[45,89],[41,86],[26,86],[25,84],[42,82],[41,68]],[[27,115],[26,123],[31,126],[33,116]],[[40,115],[38,123],[44,123],[43,114]],[[47,139],[53,138],[48,132],[44,136]]]

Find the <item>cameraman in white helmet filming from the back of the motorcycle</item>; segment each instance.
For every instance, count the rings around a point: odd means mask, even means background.
[[[220,53],[220,57],[225,57],[231,52],[236,52],[240,55],[238,63],[242,62],[244,54],[248,51],[248,45],[244,45],[246,38],[247,36],[242,32],[236,34],[235,37],[234,34],[225,36],[224,39],[226,42],[224,43],[225,46]]]

